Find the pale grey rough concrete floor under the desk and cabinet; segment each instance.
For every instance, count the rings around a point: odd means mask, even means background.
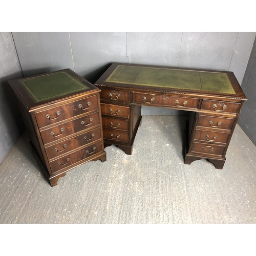
[[[51,187],[28,143],[0,165],[0,223],[256,223],[256,146],[237,124],[222,170],[183,163],[186,116],[143,116],[133,154],[106,147]]]

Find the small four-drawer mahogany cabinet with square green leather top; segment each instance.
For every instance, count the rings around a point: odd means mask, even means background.
[[[100,90],[70,69],[9,81],[52,186],[74,167],[106,160]]]

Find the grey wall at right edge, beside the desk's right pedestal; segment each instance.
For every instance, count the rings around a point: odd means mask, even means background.
[[[242,89],[248,101],[244,103],[238,123],[256,145],[256,41],[248,61]]]

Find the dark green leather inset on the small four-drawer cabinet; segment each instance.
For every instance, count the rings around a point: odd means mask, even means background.
[[[19,83],[35,103],[89,88],[65,71],[25,78]]]

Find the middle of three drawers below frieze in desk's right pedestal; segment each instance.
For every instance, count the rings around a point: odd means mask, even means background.
[[[227,143],[229,133],[212,132],[205,130],[196,130],[195,140],[213,141],[219,143]]]

